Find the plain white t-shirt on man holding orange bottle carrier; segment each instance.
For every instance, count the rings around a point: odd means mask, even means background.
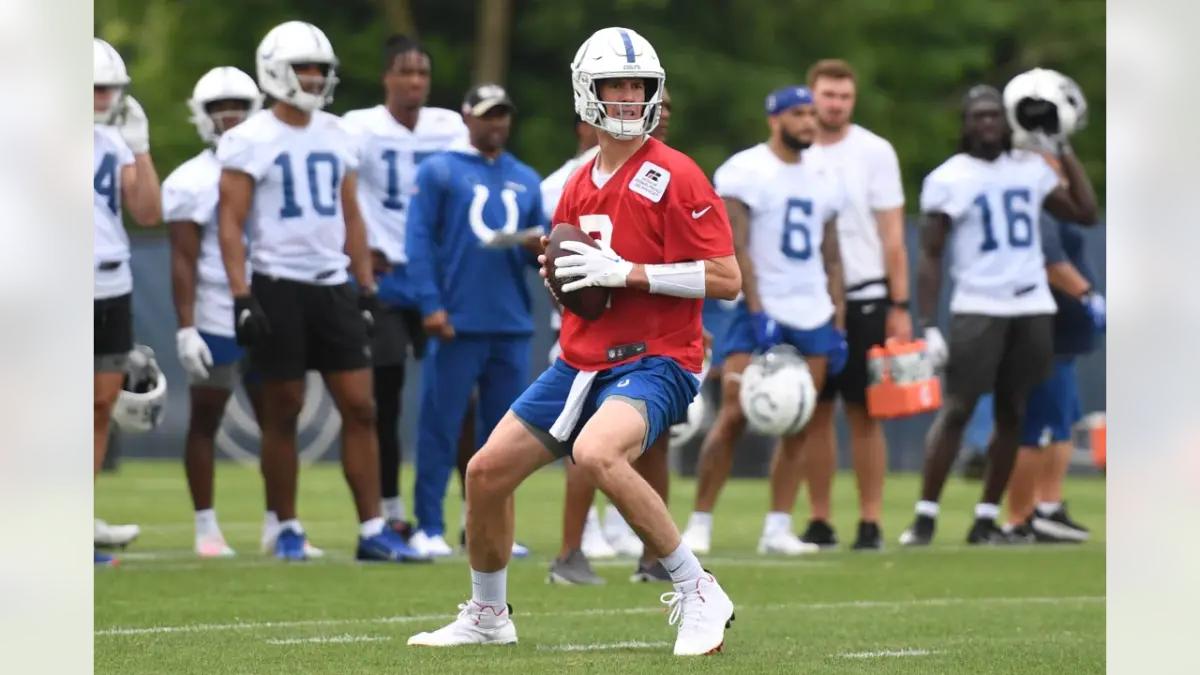
[[[832,168],[846,192],[846,209],[838,217],[846,297],[852,300],[886,297],[887,270],[875,211],[904,205],[896,151],[887,139],[856,124],[841,141],[812,145],[804,157]]]

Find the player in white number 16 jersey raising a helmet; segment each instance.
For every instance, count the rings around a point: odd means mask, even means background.
[[[996,429],[967,543],[1012,540],[996,525],[998,503],[1016,458],[1026,399],[1049,374],[1052,359],[1055,301],[1046,282],[1039,216],[1045,208],[1070,222],[1097,221],[1096,195],[1070,147],[1063,142],[1058,149],[1069,181],[1063,187],[1044,157],[1013,149],[995,88],[967,91],[959,149],[925,178],[920,192],[918,300],[930,358],[946,365],[946,395],[926,441],[917,518],[900,537],[905,545],[932,539],[946,476],[985,392],[995,393]],[[947,346],[937,328],[937,299],[942,251],[952,232],[954,294]]]

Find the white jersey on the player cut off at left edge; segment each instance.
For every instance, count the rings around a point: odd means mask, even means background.
[[[116,298],[133,292],[130,235],[121,223],[121,169],[133,163],[133,151],[112,126],[95,125],[91,172],[91,213],[96,221],[92,298]]]

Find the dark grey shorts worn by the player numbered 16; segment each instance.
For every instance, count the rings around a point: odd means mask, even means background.
[[[1054,315],[950,318],[950,358],[946,394],[973,401],[988,392],[1028,396],[1050,376],[1054,363]]]

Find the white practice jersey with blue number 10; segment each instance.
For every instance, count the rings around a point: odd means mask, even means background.
[[[359,159],[342,121],[316,110],[306,127],[260,110],[221,136],[222,168],[254,179],[247,229],[256,274],[318,285],[344,283],[349,257],[342,181]]]

